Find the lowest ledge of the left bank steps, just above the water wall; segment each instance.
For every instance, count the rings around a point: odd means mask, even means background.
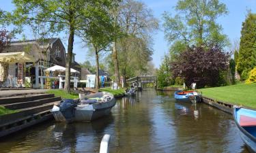
[[[0,116],[0,125],[1,124],[7,124],[8,122],[14,122],[15,120],[18,120],[19,118],[25,118],[26,116],[31,116],[33,114],[37,114],[40,112],[44,112],[46,110],[50,110],[53,108],[53,105],[55,103],[59,103],[60,101],[54,101],[51,103],[45,103],[43,105],[38,105],[35,107],[28,107],[23,109],[18,109],[19,112],[14,114],[6,114],[3,116]]]

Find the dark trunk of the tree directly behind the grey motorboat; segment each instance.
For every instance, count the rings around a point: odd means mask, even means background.
[[[66,58],[66,77],[65,77],[65,86],[64,90],[70,93],[70,67],[72,61],[72,52],[74,44],[74,27],[70,25],[70,35],[68,37],[68,55]]]

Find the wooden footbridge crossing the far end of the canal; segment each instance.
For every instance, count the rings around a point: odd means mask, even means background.
[[[154,87],[158,88],[157,75],[137,76],[126,80],[126,82],[138,89]]]

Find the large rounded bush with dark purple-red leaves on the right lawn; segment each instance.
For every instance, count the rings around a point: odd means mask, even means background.
[[[219,86],[221,73],[228,69],[229,54],[219,48],[188,48],[171,63],[173,76],[181,76],[187,85],[197,83],[197,88]]]

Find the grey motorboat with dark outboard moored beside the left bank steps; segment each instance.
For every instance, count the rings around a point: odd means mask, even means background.
[[[62,122],[91,121],[109,115],[116,100],[109,92],[79,95],[79,99],[65,99],[51,110],[55,120]]]

